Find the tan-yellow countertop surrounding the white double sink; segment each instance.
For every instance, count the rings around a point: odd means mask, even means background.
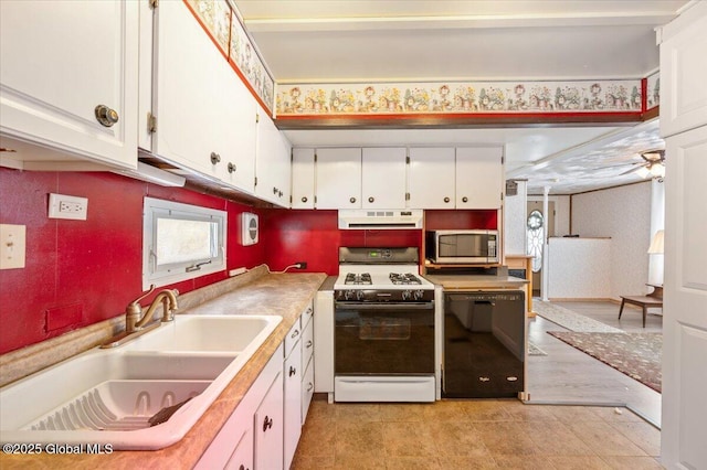
[[[324,274],[265,274],[210,300],[207,287],[189,296],[180,313],[278,314],[283,321],[243,366],[211,407],[178,444],[160,450],[114,451],[108,455],[0,455],[0,468],[183,469],[192,468],[236,408],[285,334],[326,279]],[[193,305],[193,306],[190,306]]]

